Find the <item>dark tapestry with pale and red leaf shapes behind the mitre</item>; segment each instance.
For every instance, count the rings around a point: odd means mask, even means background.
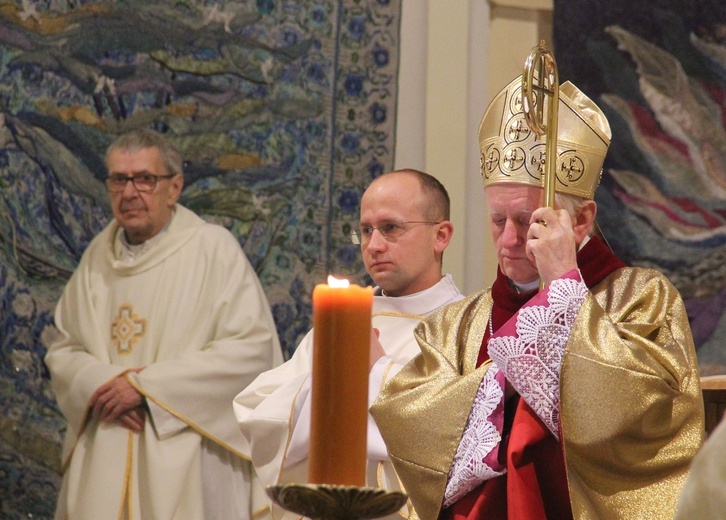
[[[721,0],[556,0],[555,56],[607,115],[598,221],[688,309],[702,375],[726,373],[726,10]]]

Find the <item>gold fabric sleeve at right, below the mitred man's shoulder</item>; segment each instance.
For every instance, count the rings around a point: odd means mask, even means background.
[[[591,293],[560,376],[574,516],[672,518],[704,435],[683,302],[645,269],[621,269]]]

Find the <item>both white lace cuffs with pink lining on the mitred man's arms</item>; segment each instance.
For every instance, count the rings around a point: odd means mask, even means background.
[[[560,366],[570,330],[588,289],[578,270],[532,297],[489,340],[492,367],[474,398],[449,471],[444,507],[485,480],[506,472],[497,462],[504,410],[504,377],[559,439]]]

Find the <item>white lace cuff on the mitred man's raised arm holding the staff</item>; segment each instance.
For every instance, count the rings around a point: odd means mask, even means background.
[[[587,294],[582,281],[553,281],[546,305],[519,311],[516,336],[492,338],[488,345],[494,363],[558,440],[560,367],[572,324]]]

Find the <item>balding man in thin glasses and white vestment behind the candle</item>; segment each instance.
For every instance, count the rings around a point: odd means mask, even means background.
[[[417,170],[397,170],[375,179],[361,200],[360,243],[367,272],[377,284],[373,327],[387,356],[372,367],[369,402],[393,376],[391,366],[420,352],[413,329],[424,316],[463,298],[442,256],[453,226],[449,196],[441,183]],[[293,357],[260,375],[235,399],[240,428],[249,440],[252,462],[266,485],[307,482],[310,434],[310,331]],[[368,419],[367,485],[400,489],[378,429]],[[407,506],[402,514],[407,515]],[[390,518],[400,518],[396,513]],[[297,518],[273,505],[273,518]]]

